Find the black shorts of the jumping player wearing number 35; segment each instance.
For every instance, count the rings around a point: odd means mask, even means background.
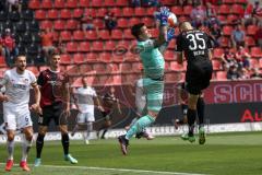
[[[186,72],[187,90],[190,94],[201,94],[210,85],[213,67],[210,60],[194,61]]]

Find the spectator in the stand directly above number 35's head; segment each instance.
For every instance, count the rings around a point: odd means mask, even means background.
[[[206,19],[206,13],[203,10],[201,4],[199,4],[196,8],[192,10],[190,18],[192,20],[192,26],[195,28],[199,28],[204,24],[204,21]]]

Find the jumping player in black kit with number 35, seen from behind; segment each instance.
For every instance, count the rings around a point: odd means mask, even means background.
[[[189,132],[182,139],[190,142],[195,141],[194,121],[196,118],[196,104],[202,90],[210,85],[213,67],[210,58],[212,44],[210,37],[203,31],[194,30],[189,22],[179,25],[180,34],[177,37],[178,63],[183,62],[183,55],[187,59],[186,88],[188,97],[188,125]],[[200,118],[201,119],[201,118]],[[199,143],[204,144],[205,131],[203,125],[199,128]]]

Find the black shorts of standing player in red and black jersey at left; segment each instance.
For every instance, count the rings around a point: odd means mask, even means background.
[[[49,126],[50,121],[53,119],[56,126],[67,125],[68,119],[64,115],[64,108],[62,103],[53,103],[50,106],[43,107],[43,115],[38,118],[38,125]]]

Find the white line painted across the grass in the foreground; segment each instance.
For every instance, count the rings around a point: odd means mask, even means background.
[[[5,163],[0,163],[5,164]],[[14,164],[19,166],[19,164]],[[195,173],[178,173],[178,172],[160,172],[160,171],[145,171],[145,170],[129,170],[129,168],[111,168],[111,167],[88,167],[88,166],[63,166],[63,165],[40,165],[40,167],[51,168],[79,168],[79,170],[96,170],[96,171],[116,171],[116,172],[133,172],[133,173],[152,173],[152,174],[166,174],[166,175],[206,175]],[[35,167],[37,168],[37,167]]]

